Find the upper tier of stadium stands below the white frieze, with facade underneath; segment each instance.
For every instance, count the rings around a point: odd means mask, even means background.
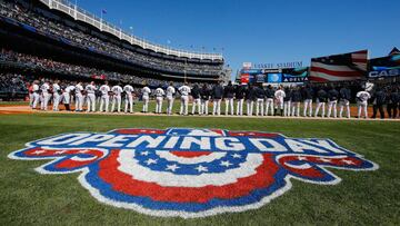
[[[7,28],[17,26],[23,29],[22,32],[34,35],[38,40],[52,38],[60,42],[57,46],[70,46],[71,51],[80,48],[87,55],[101,56],[109,61],[117,60],[159,77],[164,75],[181,80],[187,78],[212,81],[223,72],[223,59],[190,59],[144,50],[106,36],[89,24],[78,23],[63,13],[52,12],[39,1],[1,0],[0,19]],[[20,31],[16,32],[16,28],[12,28],[2,33],[18,35]]]

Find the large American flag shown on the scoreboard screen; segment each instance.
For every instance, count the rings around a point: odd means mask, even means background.
[[[310,81],[361,79],[367,73],[368,50],[312,58]]]

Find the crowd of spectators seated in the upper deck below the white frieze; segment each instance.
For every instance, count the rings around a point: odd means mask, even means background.
[[[221,73],[223,68],[223,62],[218,65],[192,63],[187,61],[180,62],[139,53],[127,48],[119,47],[109,41],[101,40],[78,29],[73,29],[67,24],[52,20],[51,18],[46,18],[34,12],[34,10],[24,9],[14,1],[0,0],[0,16],[29,24],[44,35],[63,38],[74,46],[81,47],[83,49],[112,56],[124,61],[139,63],[147,68],[153,68],[169,72],[188,72],[199,76],[218,76]]]

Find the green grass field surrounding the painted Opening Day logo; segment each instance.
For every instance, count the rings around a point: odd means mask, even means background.
[[[201,127],[282,132],[292,137],[331,138],[379,164],[376,171],[332,169],[334,186],[292,180],[284,195],[256,210],[206,218],[161,218],[97,202],[78,174],[40,175],[47,161],[11,160],[24,143],[69,131],[108,131],[133,127]],[[400,124],[213,117],[101,115],[0,116],[0,225],[399,225]]]

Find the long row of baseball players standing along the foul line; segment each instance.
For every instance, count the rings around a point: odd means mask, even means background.
[[[367,88],[368,89],[368,88]],[[52,98],[53,110],[59,110],[59,104],[63,104],[67,110],[70,110],[71,97],[74,97],[76,111],[83,110],[83,102],[87,104],[87,111],[96,111],[96,99],[100,98],[99,111],[109,111],[109,102],[111,100],[111,111],[121,110],[122,94],[124,94],[124,112],[133,112],[133,87],[130,85],[123,86],[116,85],[108,86],[106,81],[102,86],[97,88],[94,82],[90,82],[82,86],[81,82],[72,83],[69,86],[60,87],[59,81],[56,80],[52,85],[49,81],[44,81],[39,86],[39,81],[34,81],[30,89],[31,107],[37,108],[40,102],[42,110],[47,110],[49,100]],[[370,91],[370,90],[369,90]],[[358,104],[358,117],[368,117],[368,100],[371,98],[370,92],[361,90],[357,92]],[[313,89],[311,86],[306,87],[278,87],[278,89],[268,86],[266,89],[259,86],[241,85],[233,86],[229,82],[227,86],[222,83],[208,85],[194,83],[193,87],[189,87],[188,83],[179,87],[177,90],[171,82],[167,89],[158,87],[152,91],[149,87],[143,87],[140,91],[143,107],[142,112],[149,111],[149,101],[152,94],[156,96],[156,114],[162,112],[162,102],[167,99],[167,114],[172,115],[173,102],[177,94],[180,95],[180,115],[188,115],[190,96],[192,97],[192,111],[199,115],[209,114],[209,102],[212,102],[212,115],[221,115],[221,101],[224,100],[224,114],[242,116],[243,105],[247,105],[248,116],[286,116],[286,117],[299,117],[301,104],[303,104],[302,116],[304,117],[342,117],[346,112],[346,117],[350,118],[350,100],[351,90],[342,86],[339,89],[331,87],[320,86],[318,89]],[[397,109],[399,107],[400,95],[397,90],[391,92],[391,97],[386,97],[381,89],[377,89],[373,94],[373,111],[376,116],[377,110],[380,110],[382,116],[382,99],[388,99],[393,105],[393,116],[397,116]],[[317,101],[317,106],[313,112],[313,99]],[[236,112],[234,112],[234,100]],[[338,115],[339,105],[339,115]],[[256,109],[254,109],[256,107]],[[326,114],[328,108],[328,114]]]

